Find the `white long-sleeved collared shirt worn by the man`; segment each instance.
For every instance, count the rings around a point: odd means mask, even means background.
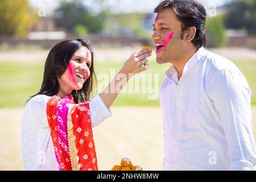
[[[163,169],[255,169],[250,97],[236,65],[204,48],[179,81],[176,68],[169,68],[160,89]]]

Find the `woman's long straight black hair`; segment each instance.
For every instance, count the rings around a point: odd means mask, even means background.
[[[65,40],[56,44],[49,52],[46,63],[44,64],[44,77],[41,89],[34,96],[44,94],[46,96],[55,96],[59,92],[59,82],[57,78],[63,75],[68,68],[69,61],[74,53],[81,46],[89,49],[92,56],[92,65],[90,67],[90,76],[82,85],[80,90],[73,90],[75,103],[89,101],[93,89],[93,77],[95,78],[93,63],[94,56],[92,44],[87,39]],[[31,97],[34,97],[31,96]]]

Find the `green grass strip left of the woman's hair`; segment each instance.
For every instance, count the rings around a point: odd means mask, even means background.
[[[0,63],[0,107],[23,107],[42,78],[43,63]]]

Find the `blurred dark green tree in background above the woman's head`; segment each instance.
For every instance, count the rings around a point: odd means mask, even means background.
[[[109,10],[106,9],[97,15],[93,15],[91,10],[81,0],[63,1],[55,10],[55,23],[56,27],[63,27],[68,32],[74,32],[76,34],[81,33],[81,26],[84,26],[83,29],[88,33],[101,32],[109,13]]]

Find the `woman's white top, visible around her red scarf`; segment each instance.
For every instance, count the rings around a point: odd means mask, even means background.
[[[59,171],[46,115],[47,102],[50,98],[38,95],[26,104],[21,135],[25,170]],[[112,115],[98,94],[89,102],[89,107],[92,127]]]

